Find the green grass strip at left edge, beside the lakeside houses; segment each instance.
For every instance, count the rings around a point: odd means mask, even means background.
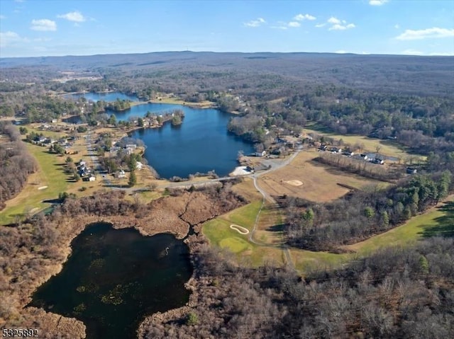
[[[59,193],[67,190],[67,175],[63,171],[65,157],[48,153],[47,147],[26,144],[28,151],[38,161],[38,172],[33,173],[21,193],[9,202],[0,212],[0,224],[10,224],[14,217],[24,212],[44,209],[50,203],[43,200],[55,199]],[[38,190],[43,186],[45,189]]]

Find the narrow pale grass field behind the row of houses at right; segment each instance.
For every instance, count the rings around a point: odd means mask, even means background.
[[[326,137],[331,137],[333,139],[339,140],[342,139],[345,144],[350,144],[354,146],[355,144],[362,146],[363,152],[375,152],[377,147],[380,147],[380,153],[386,156],[394,156],[406,161],[407,159],[425,159],[423,156],[418,156],[416,154],[409,154],[404,146],[397,144],[392,140],[382,140],[375,139],[370,137],[365,137],[363,135],[342,135],[331,132],[326,132],[323,128],[319,128],[317,125],[309,125],[308,128],[303,129],[304,134],[316,133]]]

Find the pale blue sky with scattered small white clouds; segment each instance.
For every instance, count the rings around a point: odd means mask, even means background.
[[[454,55],[454,0],[0,0],[0,57],[175,50]]]

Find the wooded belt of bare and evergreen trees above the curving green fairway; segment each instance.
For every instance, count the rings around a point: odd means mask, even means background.
[[[450,171],[416,175],[389,188],[373,185],[333,202],[284,197],[284,234],[289,245],[311,251],[340,251],[402,224],[447,197],[454,189]]]

